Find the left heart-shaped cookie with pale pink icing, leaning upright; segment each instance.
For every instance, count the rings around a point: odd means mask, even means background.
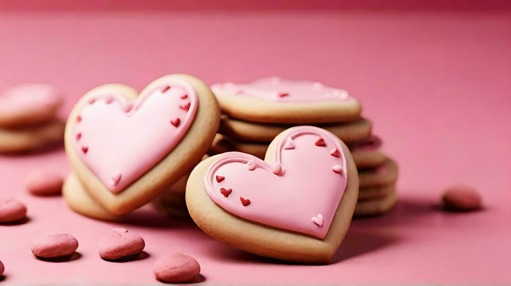
[[[215,96],[191,75],[163,76],[140,95],[108,84],[76,103],[65,149],[91,197],[122,215],[189,172],[210,147],[219,121]]]

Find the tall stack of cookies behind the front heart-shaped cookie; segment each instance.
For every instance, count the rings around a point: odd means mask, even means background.
[[[264,160],[270,142],[285,129],[318,126],[350,148],[359,169],[354,215],[385,214],[396,204],[397,166],[381,151],[380,138],[371,134],[371,122],[360,116],[358,100],[346,91],[280,77],[244,85],[216,84],[211,89],[223,115],[210,155],[238,151]]]

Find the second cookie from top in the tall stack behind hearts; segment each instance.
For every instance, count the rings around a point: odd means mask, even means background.
[[[332,132],[345,143],[356,142],[369,137],[372,127],[371,122],[365,118],[343,123],[312,125]],[[218,133],[236,140],[271,142],[278,134],[292,126],[290,124],[250,122],[222,115]]]

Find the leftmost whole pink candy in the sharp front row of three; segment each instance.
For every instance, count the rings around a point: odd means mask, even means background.
[[[44,232],[32,241],[32,253],[44,258],[73,255],[78,248],[78,241],[64,232]]]

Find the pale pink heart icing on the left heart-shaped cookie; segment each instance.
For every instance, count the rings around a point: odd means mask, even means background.
[[[176,79],[144,91],[133,102],[113,90],[91,93],[83,102],[81,120],[73,126],[79,137],[74,147],[112,193],[122,191],[172,151],[198,107],[192,86]],[[176,118],[179,123],[171,123]]]

